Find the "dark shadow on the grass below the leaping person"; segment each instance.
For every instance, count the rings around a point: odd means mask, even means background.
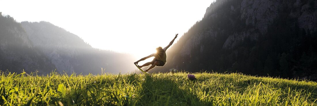
[[[197,96],[180,89],[179,86],[172,78],[146,75],[142,83],[143,96],[141,101],[144,102],[140,102],[140,105],[206,105]]]

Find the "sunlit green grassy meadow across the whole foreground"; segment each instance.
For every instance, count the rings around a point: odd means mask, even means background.
[[[316,106],[317,83],[242,74],[0,76],[0,105]]]

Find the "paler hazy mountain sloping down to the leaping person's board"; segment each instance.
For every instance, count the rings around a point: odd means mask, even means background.
[[[52,23],[21,22],[21,25],[34,47],[39,48],[59,72],[98,74],[103,68],[105,72],[119,73],[134,68],[133,56],[92,48],[79,36]]]

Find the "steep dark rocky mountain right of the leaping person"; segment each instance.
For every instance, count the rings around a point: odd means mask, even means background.
[[[167,50],[169,69],[317,80],[315,0],[217,0]]]

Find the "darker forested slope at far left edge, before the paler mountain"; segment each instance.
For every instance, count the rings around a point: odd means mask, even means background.
[[[33,46],[20,23],[0,12],[0,70],[21,73],[39,71],[44,74],[55,69],[43,52]]]

